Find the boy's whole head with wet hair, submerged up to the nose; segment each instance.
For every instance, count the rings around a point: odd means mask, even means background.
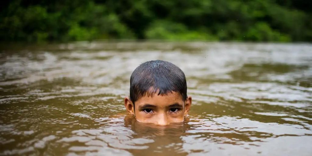
[[[192,98],[187,96],[183,71],[170,62],[155,60],[133,71],[130,98],[124,104],[138,121],[166,125],[183,121]]]

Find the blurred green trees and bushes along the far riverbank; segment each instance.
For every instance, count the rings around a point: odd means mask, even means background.
[[[11,0],[0,38],[312,41],[310,8],[304,0]]]

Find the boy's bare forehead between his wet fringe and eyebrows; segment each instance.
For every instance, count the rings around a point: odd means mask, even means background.
[[[139,100],[135,102],[135,105],[144,105],[144,104],[153,104],[153,105],[171,105],[173,103],[183,103],[182,97],[180,94],[173,92],[168,95],[157,95],[148,96],[144,95]]]

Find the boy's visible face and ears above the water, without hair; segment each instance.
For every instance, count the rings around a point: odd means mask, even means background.
[[[176,92],[164,96],[157,94],[154,96],[144,95],[135,102],[135,108],[129,97],[124,99],[126,110],[133,114],[137,121],[157,125],[182,122],[184,116],[188,115],[191,105],[191,96],[183,100],[181,95]]]

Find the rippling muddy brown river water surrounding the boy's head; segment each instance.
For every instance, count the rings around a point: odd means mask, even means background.
[[[142,124],[123,98],[140,63],[170,61],[183,123]],[[312,45],[75,42],[0,53],[0,155],[311,155]]]

